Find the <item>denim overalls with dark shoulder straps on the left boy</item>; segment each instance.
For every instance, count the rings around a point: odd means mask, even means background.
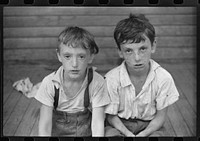
[[[67,113],[57,111],[59,99],[59,89],[55,86],[54,110],[52,120],[52,136],[91,136],[91,118],[92,114],[88,109],[89,84],[93,79],[93,70],[88,70],[88,84],[84,93],[84,111],[77,113]]]

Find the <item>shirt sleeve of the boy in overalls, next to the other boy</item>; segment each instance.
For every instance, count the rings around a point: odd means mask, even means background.
[[[108,92],[106,90],[105,81],[103,83],[98,83],[93,88],[92,95],[92,108],[102,107],[108,105],[110,103],[110,97],[108,96]]]

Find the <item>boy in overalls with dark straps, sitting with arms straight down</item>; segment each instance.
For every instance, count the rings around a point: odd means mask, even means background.
[[[68,27],[58,39],[62,66],[46,76],[35,96],[42,103],[40,136],[104,136],[105,80],[88,67],[98,53],[93,36]]]

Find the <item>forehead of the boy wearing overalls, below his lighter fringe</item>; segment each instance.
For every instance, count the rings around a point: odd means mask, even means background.
[[[71,46],[61,43],[59,45],[60,53],[71,53],[71,54],[88,54],[90,51],[80,45],[78,46]]]

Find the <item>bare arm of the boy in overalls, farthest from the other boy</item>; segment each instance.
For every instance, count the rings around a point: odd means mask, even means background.
[[[39,136],[51,136],[52,130],[52,107],[42,105],[40,108]]]

